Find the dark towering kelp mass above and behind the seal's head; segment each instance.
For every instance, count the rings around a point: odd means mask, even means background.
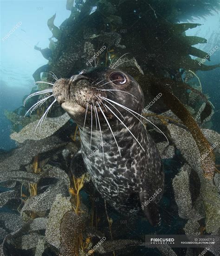
[[[141,12],[140,4],[142,5]],[[88,42],[93,45],[94,49],[105,45],[107,52],[113,50],[112,55],[117,56],[124,53],[120,45],[126,46],[126,52],[135,56],[143,72],[153,72],[155,75],[158,73],[165,75],[166,72],[172,75],[174,70],[180,68],[197,71],[219,67],[219,65],[199,65],[189,56],[194,55],[200,58],[207,56],[207,53],[192,47],[197,43],[206,43],[206,39],[185,35],[186,30],[201,26],[201,24],[170,22],[162,15],[158,15],[160,4],[158,3],[155,8],[154,5],[151,6],[142,0],[141,2],[123,1],[120,4],[117,1],[110,3],[107,0],[93,0],[80,5],[80,9],[72,8],[70,18],[60,26],[62,40],[56,43],[52,59],[48,63],[48,70],[58,76],[69,77],[78,70],[84,69],[87,59],[91,58],[91,55],[84,52],[84,46]],[[91,13],[94,7],[97,9]],[[73,19],[75,9],[80,12]],[[48,20],[50,29],[52,29],[54,19],[55,15]],[[151,26],[148,26],[149,20],[153,20]],[[129,29],[130,27],[132,29]],[[104,34],[106,36],[103,36]],[[113,42],[110,35],[113,38],[118,37],[119,41]],[[136,47],[137,45],[139,47]],[[143,53],[145,53],[144,58]],[[99,63],[104,62],[106,65],[110,65],[112,60],[111,58],[105,59],[104,54],[98,59]]]

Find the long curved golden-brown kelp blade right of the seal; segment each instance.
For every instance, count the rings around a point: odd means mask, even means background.
[[[172,79],[152,79],[152,89],[156,94],[162,93],[161,98],[164,103],[171,109],[175,115],[181,119],[192,134],[201,154],[201,168],[204,171],[204,176],[208,179],[214,177],[215,172],[215,155],[207,138],[201,132],[199,125],[188,112],[181,101],[176,98],[173,92],[170,91],[170,85],[176,82]],[[205,156],[205,157],[203,157]]]

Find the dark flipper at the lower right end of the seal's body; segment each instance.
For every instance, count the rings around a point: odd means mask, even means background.
[[[155,202],[149,202],[149,197],[146,197],[146,192],[140,193],[141,208],[145,216],[148,218],[152,226],[159,226],[161,217],[158,205]]]

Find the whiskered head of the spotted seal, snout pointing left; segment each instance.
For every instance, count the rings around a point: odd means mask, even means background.
[[[70,79],[57,80],[53,85],[53,95],[80,126],[84,125],[85,114],[88,124],[91,113],[99,115],[103,111],[111,121],[115,118],[111,111],[120,112],[121,116],[128,115],[128,111],[120,105],[137,113],[141,113],[144,107],[143,92],[135,79],[125,72],[107,67],[86,69]]]

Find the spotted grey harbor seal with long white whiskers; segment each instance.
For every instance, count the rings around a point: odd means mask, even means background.
[[[157,203],[164,188],[159,152],[142,123],[144,96],[129,74],[108,67],[58,79],[58,104],[77,123],[80,156],[100,195],[118,212],[160,223]]]

